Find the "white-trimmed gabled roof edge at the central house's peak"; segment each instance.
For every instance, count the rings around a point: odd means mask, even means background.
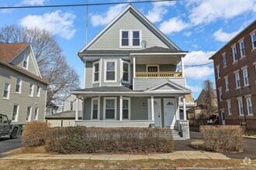
[[[157,27],[154,26],[154,24],[152,22],[150,22],[150,20],[148,20],[141,12],[139,12],[136,8],[134,8],[133,5],[128,5],[126,7],[126,9],[123,12],[121,12],[119,15],[117,15],[116,18],[113,19],[112,22],[109,23],[109,25],[107,25],[104,29],[102,29],[102,31],[99,32],[99,34],[97,36],[95,36],[94,39],[92,39],[90,42],[88,42],[88,45],[86,45],[84,48],[82,48],[79,51],[79,53],[82,53],[83,51],[85,51],[86,49],[91,47],[100,37],[102,37],[109,29],[111,29],[112,26],[114,26],[115,23],[119,21],[119,19],[122,19],[123,15],[126,15],[127,12],[133,12],[134,14],[136,14],[137,18],[144,21],[147,24],[149,29],[151,29],[152,31],[154,30],[154,32],[157,33],[157,36],[161,37],[161,39],[163,39],[164,42],[167,43],[168,46],[170,46],[170,47],[172,46],[177,50],[182,50],[175,44],[175,42],[172,42],[171,39],[168,38],[168,36],[166,36],[163,32],[161,32],[160,29],[157,29]]]

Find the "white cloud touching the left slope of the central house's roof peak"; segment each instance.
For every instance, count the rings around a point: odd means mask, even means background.
[[[124,8],[126,8],[126,4],[119,4],[109,7],[106,12],[91,14],[92,26],[106,26],[120,12],[123,12]]]

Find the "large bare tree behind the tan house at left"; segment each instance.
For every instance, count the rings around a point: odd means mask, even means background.
[[[22,28],[16,25],[0,28],[0,42],[29,42],[33,47],[40,72],[50,82],[47,89],[47,105],[50,101],[60,104],[71,89],[79,84],[78,74],[68,66],[62,56],[61,46],[55,37],[45,29]]]

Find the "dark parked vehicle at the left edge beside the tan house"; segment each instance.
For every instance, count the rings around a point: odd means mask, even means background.
[[[11,139],[18,137],[19,127],[11,122],[5,114],[0,114],[0,137],[5,135],[10,135]]]

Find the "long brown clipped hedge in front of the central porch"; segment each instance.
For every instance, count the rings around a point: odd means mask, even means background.
[[[53,128],[47,151],[78,153],[171,152],[174,148],[170,129],[158,128]]]

